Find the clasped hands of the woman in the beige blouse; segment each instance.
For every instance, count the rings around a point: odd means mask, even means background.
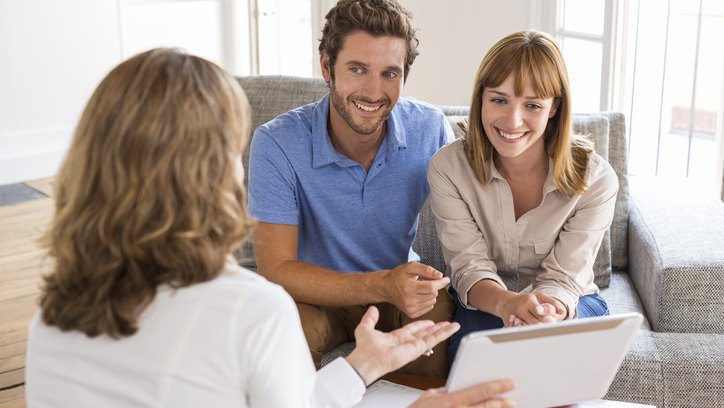
[[[558,299],[541,292],[510,297],[503,304],[500,318],[505,327],[552,323],[566,318],[566,306]]]

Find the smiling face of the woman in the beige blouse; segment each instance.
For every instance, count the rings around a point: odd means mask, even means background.
[[[543,135],[556,114],[558,99],[536,96],[528,78],[523,95],[515,95],[513,75],[495,88],[483,90],[483,129],[502,158],[544,154]]]

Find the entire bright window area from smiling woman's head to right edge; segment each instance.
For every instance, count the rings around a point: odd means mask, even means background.
[[[724,2],[555,4],[548,31],[568,64],[574,110],[626,114],[631,175],[685,179],[721,196]]]

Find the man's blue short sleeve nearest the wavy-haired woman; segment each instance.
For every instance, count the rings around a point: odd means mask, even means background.
[[[249,213],[272,224],[299,223],[294,167],[262,126],[254,132],[249,152]]]

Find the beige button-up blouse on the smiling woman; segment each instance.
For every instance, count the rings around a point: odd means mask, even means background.
[[[427,171],[430,207],[460,302],[474,309],[468,291],[491,279],[507,290],[553,296],[575,317],[578,298],[598,293],[593,262],[613,219],[616,173],[592,154],[586,191],[568,198],[553,184],[551,161],[543,201],[516,221],[508,183],[492,160],[487,166],[481,186],[458,139],[432,157]]]

